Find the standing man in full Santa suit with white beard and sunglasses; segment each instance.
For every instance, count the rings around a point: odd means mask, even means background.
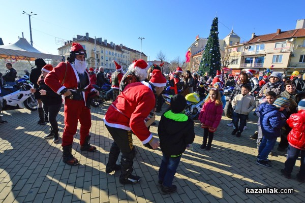
[[[54,92],[61,94],[65,103],[65,128],[62,139],[63,162],[69,165],[79,163],[72,155],[73,136],[76,133],[78,121],[80,122],[80,150],[97,150],[96,147],[89,144],[91,114],[90,109],[86,107],[86,100],[89,93],[93,94],[94,91],[94,93],[99,94],[99,92],[90,84],[84,60],[85,53],[80,44],[73,43],[68,61],[60,62],[45,78],[45,83]]]

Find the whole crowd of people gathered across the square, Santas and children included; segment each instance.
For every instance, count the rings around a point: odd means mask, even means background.
[[[132,134],[150,149],[161,148],[163,157],[159,168],[158,185],[164,194],[172,193],[177,187],[172,184],[182,154],[195,138],[194,121],[185,114],[187,100],[185,95],[196,92],[206,86],[207,96],[198,120],[203,128],[201,149],[210,150],[217,128],[221,122],[224,102],[223,88],[234,87],[229,95],[228,104],[233,109],[232,135],[240,138],[247,128],[248,115],[255,110],[258,116],[258,130],[251,137],[258,146],[256,163],[272,167],[268,156],[281,142],[279,151],[287,149],[287,160],[281,173],[291,178],[291,172],[300,154],[301,167],[297,174],[300,182],[305,182],[305,83],[298,76],[283,80],[283,75],[273,72],[259,81],[255,71],[249,70],[239,76],[225,75],[217,71],[213,78],[205,73],[184,71],[181,67],[170,74],[167,81],[162,73],[162,64],[149,66],[146,61],[133,61],[124,74],[122,67],[115,62],[116,71],[110,77],[105,76],[104,68],[87,70],[86,51],[78,43],[73,43],[68,61],[60,62],[56,67],[46,64],[41,58],[35,60],[36,67],[28,78],[34,84],[31,92],[38,100],[38,124],[50,123],[50,132],[44,137],[57,143],[60,139],[56,116],[64,104],[65,127],[62,135],[63,162],[78,165],[79,160],[72,155],[73,137],[80,123],[80,150],[95,152],[90,145],[89,130],[92,125],[89,97],[98,96],[99,91],[93,85],[101,87],[111,85],[113,102],[103,120],[113,138],[106,173],[120,171],[121,184],[134,184],[140,177],[133,174],[135,147]],[[16,71],[11,63],[6,64],[8,72],[3,76],[7,84],[15,82]],[[27,74],[27,73],[26,73]],[[165,87],[172,94],[170,108],[164,111],[158,125],[159,140],[149,131],[149,119],[162,111]],[[257,95],[254,95],[256,92]],[[256,96],[256,97],[255,97]],[[0,106],[1,110],[1,106]],[[0,124],[5,123],[0,116]],[[120,164],[117,164],[121,153]]]

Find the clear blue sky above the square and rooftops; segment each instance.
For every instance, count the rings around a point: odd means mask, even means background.
[[[45,53],[58,54],[55,38],[72,40],[76,35],[106,39],[140,50],[148,60],[157,59],[162,51],[166,60],[185,59],[188,47],[197,35],[209,35],[212,20],[219,19],[219,38],[234,32],[247,41],[252,32],[264,35],[294,29],[297,19],[305,18],[304,1],[4,1],[0,13],[5,45],[15,43],[18,36],[30,41],[28,16],[31,18],[33,46]]]

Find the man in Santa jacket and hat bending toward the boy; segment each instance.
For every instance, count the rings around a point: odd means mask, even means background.
[[[160,70],[154,70],[153,74],[149,82],[142,81],[127,85],[109,106],[104,117],[105,126],[114,140],[106,165],[106,173],[121,169],[119,178],[121,184],[140,181],[140,177],[131,174],[135,157],[131,133],[133,132],[143,144],[157,142],[154,141],[153,134],[147,129],[144,120],[155,107],[157,87],[158,91],[161,89],[159,87],[163,90],[166,79]],[[116,164],[120,152],[122,153],[121,166]]]

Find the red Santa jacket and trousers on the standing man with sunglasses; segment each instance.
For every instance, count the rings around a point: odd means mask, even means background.
[[[85,137],[89,135],[89,129],[91,127],[91,114],[90,110],[86,107],[86,100],[89,92],[92,92],[95,89],[90,84],[89,73],[87,70],[84,74],[88,77],[88,83],[80,92],[82,99],[74,100],[73,97],[70,99],[70,96],[65,98],[65,128],[63,133],[63,147],[72,145],[73,136],[77,130],[78,120],[81,125],[80,145],[84,144]],[[62,85],[63,81],[64,84]],[[78,73],[75,70],[74,65],[69,62],[60,62],[56,67],[54,67],[54,69],[46,76],[45,83],[58,94],[60,94],[60,91],[62,91],[64,88],[69,89],[71,92],[76,92],[77,90],[80,91]]]

